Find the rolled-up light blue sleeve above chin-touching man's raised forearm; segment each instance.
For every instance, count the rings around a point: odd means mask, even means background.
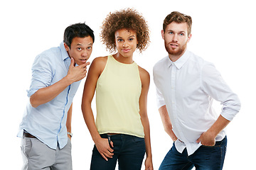
[[[32,66],[31,86],[27,91],[28,97],[35,94],[38,89],[50,86],[50,82],[53,79],[52,64],[47,55],[38,55],[36,57]]]

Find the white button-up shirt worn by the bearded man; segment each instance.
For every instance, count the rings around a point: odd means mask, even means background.
[[[174,134],[179,139],[175,142],[178,152],[186,148],[191,155],[201,146],[196,140],[218,118],[212,107],[213,98],[223,105],[220,114],[227,120],[232,120],[240,110],[238,96],[214,65],[188,50],[176,62],[164,57],[155,64],[153,74],[157,105],[159,108],[166,105]],[[215,140],[224,137],[223,130]]]

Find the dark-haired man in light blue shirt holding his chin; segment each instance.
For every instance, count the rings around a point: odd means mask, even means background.
[[[19,127],[23,169],[72,169],[72,103],[86,76],[93,30],[85,23],[65,29],[64,40],[36,57],[32,67],[30,102]]]

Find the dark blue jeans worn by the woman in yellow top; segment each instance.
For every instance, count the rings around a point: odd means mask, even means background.
[[[123,134],[103,134],[100,136],[102,138],[110,137],[110,140],[114,144],[112,148],[114,149],[114,155],[106,161],[94,146],[92,150],[91,170],[114,170],[117,159],[119,170],[139,170],[142,168],[142,161],[146,152],[144,138]]]

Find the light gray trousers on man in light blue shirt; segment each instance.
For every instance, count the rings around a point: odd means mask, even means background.
[[[21,154],[23,156],[22,170],[72,170],[71,142],[60,149],[50,149],[36,138],[22,137]]]

